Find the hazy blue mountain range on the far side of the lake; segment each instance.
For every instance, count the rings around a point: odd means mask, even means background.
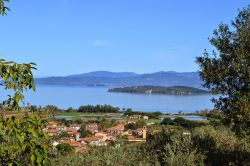
[[[64,77],[36,78],[38,85],[66,86],[189,86],[202,88],[198,72],[155,72],[136,74],[133,72],[95,71],[90,73],[69,75]]]

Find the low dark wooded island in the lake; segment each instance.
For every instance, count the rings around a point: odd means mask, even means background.
[[[188,87],[188,86],[130,86],[109,89],[108,92],[121,93],[141,93],[141,94],[166,94],[166,95],[196,95],[207,94],[206,90]]]

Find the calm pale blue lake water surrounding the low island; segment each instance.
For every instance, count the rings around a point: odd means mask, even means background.
[[[56,105],[59,108],[78,108],[81,105],[109,104],[120,108],[132,108],[135,111],[178,111],[195,112],[213,108],[211,95],[174,96],[107,92],[103,87],[67,87],[37,86],[36,92],[25,93],[25,103],[30,105]],[[0,99],[7,98],[10,92],[0,90]]]

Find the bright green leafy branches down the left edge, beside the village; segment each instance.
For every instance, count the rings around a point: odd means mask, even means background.
[[[43,131],[46,121],[40,112],[26,110],[25,114],[6,115],[6,110],[20,111],[19,102],[24,101],[25,90],[35,90],[32,69],[36,69],[34,63],[0,60],[4,88],[14,90],[14,95],[3,102],[5,109],[0,116],[0,161],[3,165],[44,165],[49,161],[49,138]]]

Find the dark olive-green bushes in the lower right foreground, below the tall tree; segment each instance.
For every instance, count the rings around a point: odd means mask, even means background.
[[[250,165],[250,140],[225,126],[197,127],[191,135],[163,130],[150,135],[142,149],[146,156],[157,154],[161,165]]]

